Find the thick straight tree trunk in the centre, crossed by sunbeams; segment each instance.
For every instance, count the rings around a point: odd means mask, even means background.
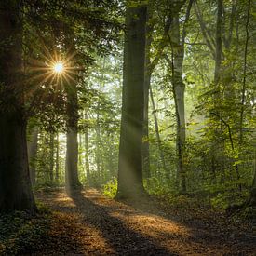
[[[147,8],[127,7],[117,197],[143,194],[142,137]]]

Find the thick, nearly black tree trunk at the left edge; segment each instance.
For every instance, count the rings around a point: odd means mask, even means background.
[[[36,209],[23,114],[21,1],[0,1],[0,211]]]

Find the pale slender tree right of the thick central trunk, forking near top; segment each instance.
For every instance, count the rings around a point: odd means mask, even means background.
[[[184,154],[185,154],[185,141],[186,141],[186,127],[185,127],[185,84],[182,79],[182,69],[183,69],[183,60],[185,52],[185,37],[186,37],[186,23],[189,20],[191,7],[193,0],[189,1],[185,20],[183,21],[183,30],[181,33],[181,7],[173,7],[174,13],[172,14],[172,30],[170,35],[170,47],[171,47],[171,60],[168,58],[168,55],[165,55],[166,60],[168,61],[169,68],[172,73],[172,92],[175,103],[176,110],[176,122],[177,122],[177,141],[176,149],[178,155],[178,165],[177,165],[177,183],[179,184],[180,180],[182,183],[182,192],[186,192],[186,170],[184,166]]]

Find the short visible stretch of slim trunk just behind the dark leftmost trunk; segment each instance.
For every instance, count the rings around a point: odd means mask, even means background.
[[[30,140],[27,142],[28,145],[28,157],[29,157],[29,167],[30,167],[30,179],[31,183],[35,185],[35,167],[34,167],[34,160],[37,153],[37,144],[38,144],[38,128],[33,128],[30,136]]]

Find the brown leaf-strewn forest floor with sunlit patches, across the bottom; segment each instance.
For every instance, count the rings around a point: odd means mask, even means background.
[[[119,202],[94,189],[73,198],[62,191],[36,197],[50,217],[22,226],[31,225],[32,231],[26,236],[22,231],[18,255],[256,255],[255,223],[234,222],[213,211],[167,207],[151,197]],[[28,241],[42,226],[47,232]]]

